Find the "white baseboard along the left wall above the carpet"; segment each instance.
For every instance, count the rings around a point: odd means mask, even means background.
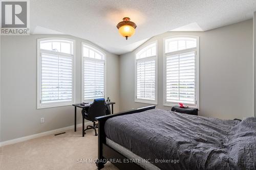
[[[91,122],[85,122],[84,123],[85,127],[88,126],[88,125],[91,125]],[[82,124],[76,125],[76,127],[81,127],[81,126],[82,126]],[[68,126],[68,127],[65,127],[65,128],[54,129],[54,130],[47,131],[47,132],[37,133],[37,134],[34,134],[34,135],[19,137],[19,138],[16,138],[16,139],[6,140],[6,141],[3,141],[3,142],[0,142],[0,147],[3,147],[3,146],[8,145],[8,144],[13,144],[13,143],[17,143],[17,142],[26,141],[26,140],[29,140],[29,139],[34,139],[34,138],[41,137],[41,136],[46,136],[46,135],[51,135],[51,134],[67,131],[67,130],[70,130],[70,129],[73,129],[73,128],[74,128],[74,125]]]

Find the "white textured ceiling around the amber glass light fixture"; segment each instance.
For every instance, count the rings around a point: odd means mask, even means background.
[[[30,0],[30,26],[34,34],[69,34],[120,55],[170,30],[215,29],[250,19],[253,11],[255,0]],[[123,17],[137,24],[128,40],[116,28]]]

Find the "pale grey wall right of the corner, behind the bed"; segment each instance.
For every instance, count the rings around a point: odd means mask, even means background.
[[[206,32],[167,32],[158,41],[158,106],[163,106],[163,38],[200,37],[199,115],[223,119],[252,116],[252,19]],[[120,111],[148,106],[134,102],[134,52],[120,56]]]

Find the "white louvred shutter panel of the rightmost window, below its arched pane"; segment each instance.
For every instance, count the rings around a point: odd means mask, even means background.
[[[166,101],[195,104],[195,52],[166,57]]]

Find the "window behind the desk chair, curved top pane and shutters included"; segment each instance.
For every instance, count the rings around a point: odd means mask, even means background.
[[[105,96],[105,55],[82,44],[82,101],[91,102]]]

